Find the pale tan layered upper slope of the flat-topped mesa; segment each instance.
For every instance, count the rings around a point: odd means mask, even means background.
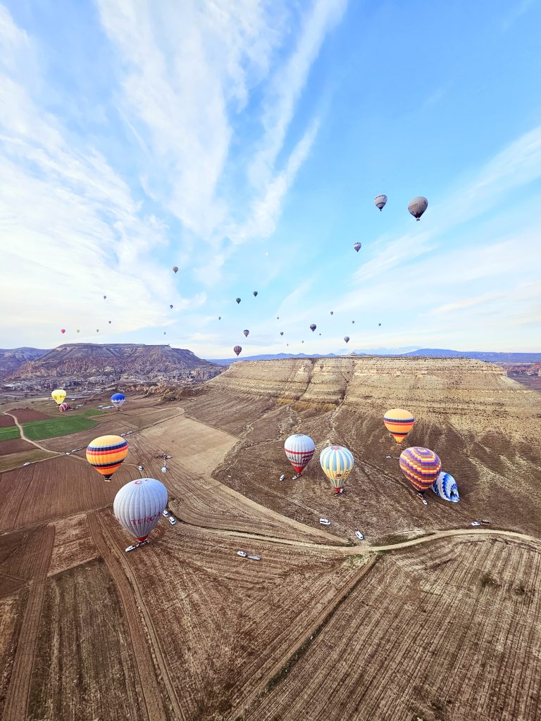
[[[502,368],[468,358],[239,361],[206,386],[314,407],[343,403],[377,415],[407,407],[414,415],[452,417],[458,425],[468,417],[470,428],[496,428],[502,419],[532,417],[536,405],[541,412],[539,394],[507,378]]]

